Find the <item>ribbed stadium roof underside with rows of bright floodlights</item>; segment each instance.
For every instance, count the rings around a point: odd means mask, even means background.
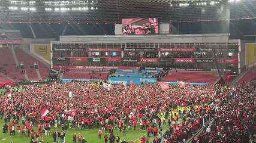
[[[121,23],[122,18],[134,17],[175,21],[255,18],[255,15],[254,0],[0,0],[2,22]]]

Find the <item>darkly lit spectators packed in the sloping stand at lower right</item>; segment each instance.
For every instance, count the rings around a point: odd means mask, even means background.
[[[255,132],[255,95],[252,83],[237,87],[236,94],[222,99],[216,116],[192,142],[249,142],[249,132]]]

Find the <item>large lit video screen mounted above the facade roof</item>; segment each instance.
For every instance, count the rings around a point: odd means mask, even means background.
[[[158,18],[129,18],[122,20],[124,35],[158,34]]]

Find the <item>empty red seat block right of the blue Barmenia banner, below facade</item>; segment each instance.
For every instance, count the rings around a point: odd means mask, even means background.
[[[165,82],[214,83],[219,78],[217,72],[211,71],[170,71],[164,77]]]

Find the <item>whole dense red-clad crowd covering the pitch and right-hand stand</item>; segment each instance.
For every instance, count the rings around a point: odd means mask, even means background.
[[[32,142],[43,141],[43,134],[52,135],[55,142],[66,142],[68,128],[98,128],[99,138],[109,132],[104,141],[118,143],[121,139],[116,141],[116,130],[122,135],[129,130],[146,130],[146,136],[139,139],[141,143],[149,139],[154,143],[185,142],[210,120],[210,132],[203,139],[225,141],[226,136],[231,138],[237,130],[246,132],[255,119],[251,108],[254,96],[249,96],[255,90],[252,85],[236,88],[171,85],[165,91],[158,85],[124,86],[112,86],[110,90],[89,82],[25,86],[23,92],[0,97],[3,132],[8,133],[9,127],[10,135],[16,135],[17,130],[31,136]],[[49,110],[46,116],[42,116],[43,108]],[[58,126],[62,132],[52,130]],[[163,133],[165,128],[167,131]],[[74,136],[73,142],[86,142],[86,136]],[[244,138],[234,136],[235,141]]]

